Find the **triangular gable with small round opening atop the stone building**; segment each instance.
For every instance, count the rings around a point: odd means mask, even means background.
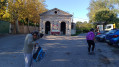
[[[60,9],[54,8],[52,10],[46,11],[42,14],[40,14],[40,16],[49,16],[49,15],[63,15],[63,16],[72,16],[71,14],[64,12]]]

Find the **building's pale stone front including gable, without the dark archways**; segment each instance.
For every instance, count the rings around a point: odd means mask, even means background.
[[[57,24],[58,30],[56,31],[57,33],[61,33],[61,23],[65,22],[66,28],[65,30],[65,35],[71,35],[71,22],[72,22],[72,15],[62,11],[58,8],[54,8],[52,10],[49,10],[47,12],[44,12],[40,14],[40,32],[45,34],[45,24],[46,22],[50,22],[50,32],[54,32],[54,24]],[[62,35],[62,34],[61,34]]]

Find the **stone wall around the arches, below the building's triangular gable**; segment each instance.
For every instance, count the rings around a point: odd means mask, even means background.
[[[66,23],[66,35],[71,35],[71,17],[59,17],[59,16],[41,16],[40,19],[40,32],[43,32],[45,34],[45,23],[49,21],[51,23],[51,30],[52,30],[52,26],[53,23],[58,23],[58,29],[60,30],[60,26],[61,26],[61,22],[65,22]],[[61,31],[60,31],[61,33]]]

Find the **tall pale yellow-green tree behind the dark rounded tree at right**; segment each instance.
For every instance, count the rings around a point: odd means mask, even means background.
[[[111,10],[116,12],[115,4],[112,1],[116,0],[91,0],[90,6],[88,7],[88,17],[94,22],[95,13],[100,10]]]

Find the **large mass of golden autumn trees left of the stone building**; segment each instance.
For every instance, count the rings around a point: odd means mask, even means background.
[[[10,22],[15,24],[16,32],[19,32],[18,21],[26,19],[29,22],[38,23],[40,20],[39,14],[46,11],[44,0],[9,0],[8,9],[10,14]],[[30,32],[30,31],[29,31]]]

